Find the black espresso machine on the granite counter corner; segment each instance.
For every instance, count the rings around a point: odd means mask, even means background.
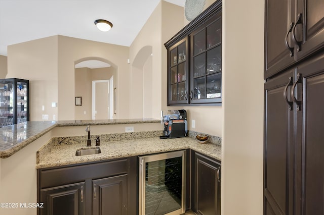
[[[161,111],[161,124],[164,125],[164,135],[160,138],[187,136],[187,112],[185,110]]]

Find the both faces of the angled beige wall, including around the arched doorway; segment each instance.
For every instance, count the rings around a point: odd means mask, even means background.
[[[57,35],[10,45],[8,56],[6,78],[30,80],[31,121],[42,121],[42,115],[49,120],[54,115],[56,120],[75,119],[74,64],[91,59],[112,65],[118,97],[114,119],[129,118],[129,47]],[[119,76],[124,77],[120,83]]]

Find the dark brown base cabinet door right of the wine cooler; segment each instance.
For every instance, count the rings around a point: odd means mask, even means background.
[[[192,151],[192,206],[198,214],[221,214],[221,164]]]

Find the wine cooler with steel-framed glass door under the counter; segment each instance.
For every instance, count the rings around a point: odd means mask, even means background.
[[[185,212],[185,151],[139,157],[139,214]]]

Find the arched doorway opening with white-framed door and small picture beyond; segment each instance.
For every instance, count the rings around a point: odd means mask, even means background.
[[[75,97],[82,97],[82,105],[75,105],[76,120],[113,119],[113,76],[116,68],[101,58],[75,61]]]

